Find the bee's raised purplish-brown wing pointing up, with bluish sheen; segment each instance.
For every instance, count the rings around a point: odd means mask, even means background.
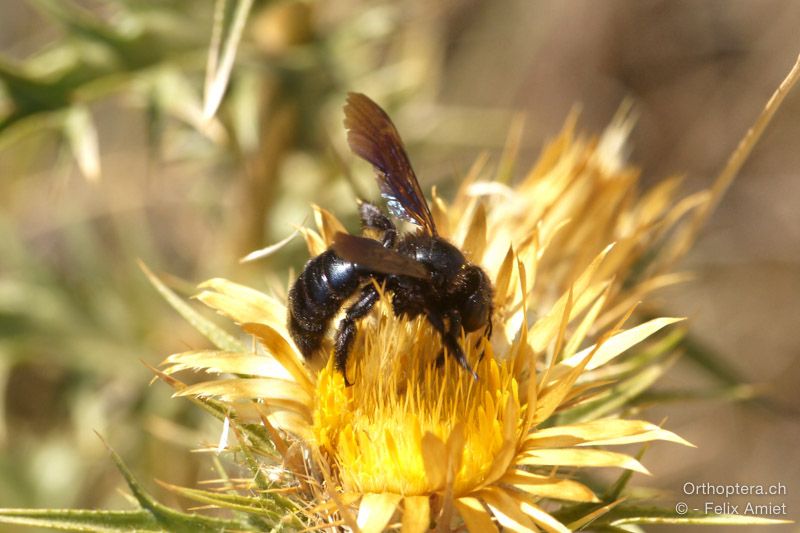
[[[392,120],[369,97],[349,93],[344,106],[347,143],[359,157],[372,163],[378,186],[389,210],[398,218],[436,235],[433,216]]]

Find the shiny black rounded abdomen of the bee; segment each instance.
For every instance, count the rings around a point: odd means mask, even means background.
[[[304,356],[319,349],[331,319],[359,283],[357,267],[331,250],[306,263],[289,291],[289,331]]]

